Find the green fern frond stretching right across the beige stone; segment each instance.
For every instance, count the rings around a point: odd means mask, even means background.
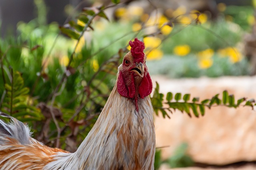
[[[191,99],[190,94],[184,94],[182,96],[181,93],[172,94],[172,92],[168,92],[164,98],[164,94],[159,92],[159,84],[157,82],[151,102],[156,115],[158,115],[158,112],[160,111],[163,117],[167,116],[169,118],[170,116],[166,111],[172,113],[176,109],[187,113],[190,117],[192,116],[191,113],[193,113],[194,116],[199,117],[200,115],[203,116],[205,114],[205,107],[210,109],[214,106],[226,106],[232,108],[249,106],[254,109],[256,106],[254,99],[247,100],[247,98],[244,97],[235,100],[234,95],[228,94],[226,90],[222,92],[222,98],[219,98],[219,94],[216,94],[211,99],[204,99],[201,102],[199,102],[199,98],[197,97]]]

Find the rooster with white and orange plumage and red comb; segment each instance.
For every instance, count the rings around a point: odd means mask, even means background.
[[[0,170],[153,170],[152,80],[144,43],[129,44],[108,101],[76,152],[47,147],[30,137],[27,125],[0,112],[10,118],[0,120]]]

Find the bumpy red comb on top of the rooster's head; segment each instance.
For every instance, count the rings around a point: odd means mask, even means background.
[[[131,53],[132,56],[134,57],[134,60],[136,62],[142,62],[144,60],[144,49],[145,45],[142,41],[138,40],[138,38],[135,38],[134,41],[130,41],[129,45],[132,47],[131,48]]]

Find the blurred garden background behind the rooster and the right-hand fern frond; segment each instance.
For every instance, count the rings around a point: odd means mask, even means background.
[[[23,91],[13,116],[27,121],[36,139],[56,146],[54,107],[64,137],[58,147],[77,149],[114,86],[120,49],[134,37],[144,41],[163,94],[206,99],[228,90],[236,99],[255,98],[255,0],[113,2],[0,1],[0,109],[12,113],[5,84],[16,77]],[[102,6],[108,8],[95,17]],[[251,108],[219,106],[199,118],[174,112],[171,119],[155,115],[155,169],[256,169]]]

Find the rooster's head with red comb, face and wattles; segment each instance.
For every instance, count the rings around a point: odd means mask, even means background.
[[[144,43],[137,38],[130,41],[131,51],[123,59],[118,67],[117,80],[118,93],[126,98],[144,98],[152,92],[152,80],[146,66],[146,55],[143,53]]]

